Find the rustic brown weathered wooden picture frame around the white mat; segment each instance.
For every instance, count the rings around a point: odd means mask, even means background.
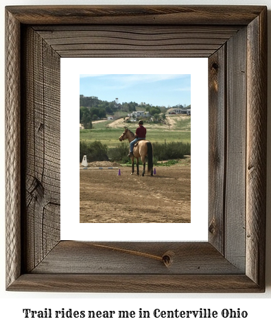
[[[264,292],[266,25],[265,6],[6,8],[7,290]],[[60,241],[60,58],[91,56],[209,58],[208,242]]]

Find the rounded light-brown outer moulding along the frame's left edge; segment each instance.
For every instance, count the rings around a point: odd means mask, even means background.
[[[5,245],[6,285],[21,274],[20,24],[5,15]]]

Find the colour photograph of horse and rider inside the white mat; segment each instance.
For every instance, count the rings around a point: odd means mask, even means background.
[[[191,222],[191,75],[80,74],[80,223]]]

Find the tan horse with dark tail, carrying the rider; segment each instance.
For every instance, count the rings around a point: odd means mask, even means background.
[[[123,134],[119,137],[119,141],[124,141],[124,139],[128,139],[129,143],[134,140],[134,133],[125,128]],[[134,151],[133,156],[131,157],[132,160],[132,173],[134,174],[134,157],[137,159],[137,175],[139,176],[139,157],[143,163],[143,172],[142,176],[145,175],[145,157],[148,156],[148,174],[151,176],[154,175],[153,172],[153,163],[152,163],[152,143],[148,140],[139,140],[137,143],[134,144]]]

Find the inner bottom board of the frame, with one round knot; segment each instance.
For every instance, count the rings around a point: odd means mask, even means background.
[[[163,260],[165,257],[170,257],[170,266],[165,265]],[[32,273],[241,274],[244,272],[229,263],[207,242],[62,241],[32,270]]]

